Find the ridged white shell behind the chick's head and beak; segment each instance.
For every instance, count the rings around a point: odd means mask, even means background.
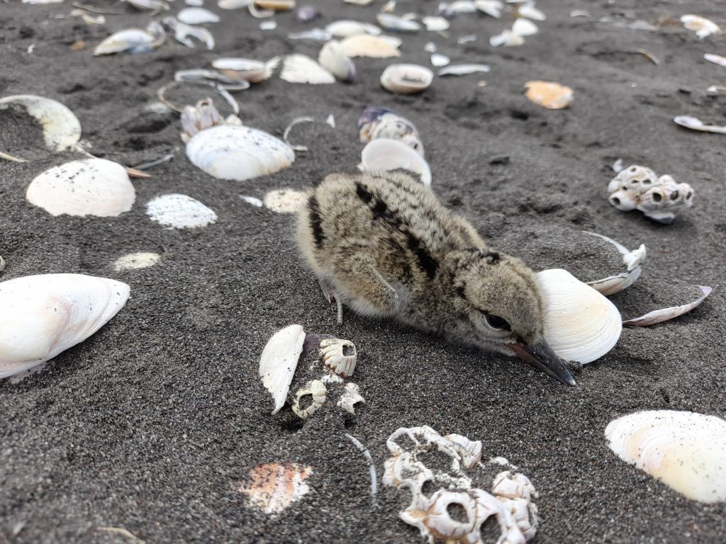
[[[560,357],[591,363],[620,338],[618,309],[602,294],[555,268],[537,274],[544,297],[544,338]]]

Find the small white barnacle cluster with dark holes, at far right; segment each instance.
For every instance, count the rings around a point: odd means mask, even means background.
[[[661,176],[650,168],[630,165],[608,184],[609,202],[618,210],[640,210],[658,223],[673,223],[676,215],[693,205],[693,189],[677,184],[672,176]]]

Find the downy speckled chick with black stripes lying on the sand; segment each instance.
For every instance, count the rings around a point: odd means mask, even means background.
[[[404,173],[332,174],[298,217],[298,244],[325,296],[452,341],[518,355],[574,385],[544,340],[542,294],[521,260]]]

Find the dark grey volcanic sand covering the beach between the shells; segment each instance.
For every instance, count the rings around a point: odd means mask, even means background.
[[[173,13],[184,5],[174,4]],[[338,0],[314,4],[324,25],[342,18],[372,22],[382,1],[365,9]],[[419,7],[430,14],[436,4],[399,1],[397,12]],[[417,530],[397,516],[409,502],[407,492],[383,488],[371,506],[367,463],[344,433],[370,449],[380,479],[388,435],[423,424],[482,440],[485,457],[505,456],[521,467],[540,493],[537,543],[725,540],[723,504],[687,500],[623,463],[603,431],[611,419],[643,409],[726,416],[726,139],[672,122],[674,115],[696,115],[726,123],[726,95],[705,92],[723,83],[726,72],[703,60],[706,52],[725,54],[726,39],[701,41],[680,25],[648,32],[595,22],[605,15],[655,22],[697,13],[724,27],[719,2],[543,1],[548,19],[539,24],[541,32],[506,49],[492,49],[488,38],[510,19],[462,15],[448,40],[426,32],[404,36],[401,59],[427,64],[423,45],[431,40],[454,62],[486,62],[492,72],[437,78],[419,96],[392,96],[379,87],[389,59],[358,59],[359,81],[351,86],[274,78],[237,94],[245,124],[280,134],[295,117],[322,120],[332,112],[338,128],[298,127],[296,143],[311,152],[298,154],[293,168],[242,183],[210,178],[190,165],[176,115],[150,114],[144,106],[175,70],[204,67],[216,57],[317,56],[319,44],[285,38],[311,25],[288,13],[276,17],[277,30],[263,32],[244,10],[224,12],[223,22],[208,25],[217,40],[214,51],[170,43],[150,54],[94,58],[91,51],[102,38],[143,27],[150,18],[120,2],[94,5],[125,15],[106,15],[106,25],[89,26],[78,17],[49,17],[68,14],[68,0],[50,6],[0,2],[0,93],[59,99],[76,112],[83,138],[99,156],[137,164],[176,154],[152,170],[153,178],[134,181],[134,210],[119,218],[54,218],[25,202],[31,179],[71,154],[23,165],[0,162],[0,255],[8,263],[3,279],[73,272],[131,285],[131,300],[97,334],[46,371],[0,384],[0,541],[128,541],[95,530],[115,526],[152,544],[421,543]],[[211,0],[205,7],[221,13]],[[572,9],[588,9],[593,18],[571,18]],[[455,38],[470,33],[478,41],[456,44]],[[70,51],[76,41],[89,46]],[[35,50],[28,54],[31,44]],[[661,65],[627,52],[635,49],[648,49]],[[488,83],[484,88],[477,86],[481,79]],[[533,79],[574,88],[572,107],[548,111],[528,102],[522,86]],[[362,147],[356,119],[369,105],[413,120],[443,202],[534,267],[567,268],[589,258],[590,250],[586,244],[578,257],[578,248],[568,247],[568,261],[558,262],[556,253],[542,255],[537,247],[528,255],[532,237],[541,234],[542,247],[555,252],[555,234],[545,234],[569,230],[563,240],[576,239],[586,229],[629,248],[648,247],[642,285],[613,297],[616,302],[645,313],[654,308],[648,293],[659,285],[670,289],[671,281],[710,285],[714,293],[675,321],[624,330],[611,353],[576,374],[577,387],[555,383],[513,358],[351,313],[338,328],[333,308],[298,258],[292,216],[252,207],[239,195],[304,189],[326,173],[354,170]],[[696,190],[693,208],[662,226],[611,207],[605,187],[619,157],[624,165],[648,165],[688,181]],[[144,204],[168,192],[200,199],[219,221],[192,231],[152,223]],[[115,273],[111,263],[135,251],[163,258],[152,268]],[[593,259],[592,269],[600,266]],[[636,296],[642,304],[629,298]],[[663,298],[658,302],[668,305]],[[341,416],[335,395],[304,425],[289,407],[270,415],[258,357],[267,339],[289,323],[356,343],[353,379],[367,400],[356,417]],[[312,492],[277,519],[245,506],[245,496],[234,490],[254,466],[274,461],[314,469]]]

